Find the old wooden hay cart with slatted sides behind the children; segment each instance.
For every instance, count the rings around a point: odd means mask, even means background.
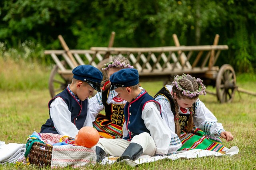
[[[114,48],[110,43],[109,47],[91,47],[90,50],[69,50],[64,43],[64,50],[44,51],[56,63],[49,79],[50,94],[53,97],[66,88],[72,80],[72,69],[78,64],[101,69],[109,57],[123,55],[139,71],[140,82],[163,81],[169,84],[176,75],[191,74],[204,80],[206,86],[216,87],[216,94],[208,93],[215,94],[221,103],[232,102],[237,90],[236,74],[229,64],[220,68],[215,66],[220,52],[228,49],[227,45],[217,45],[218,38],[216,35],[214,45],[180,46],[174,34],[176,46],[172,47]]]

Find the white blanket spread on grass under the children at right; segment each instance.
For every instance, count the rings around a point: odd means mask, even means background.
[[[189,158],[200,158],[200,157],[204,157],[204,156],[223,156],[223,155],[232,156],[234,154],[238,154],[238,152],[239,152],[239,149],[236,146],[231,147],[225,153],[223,153],[223,152],[214,152],[214,151],[210,151],[210,150],[193,149],[193,150],[188,150],[188,151],[178,151],[177,154],[173,154],[173,155],[170,155],[170,156],[152,156],[151,157],[151,156],[148,156],[148,155],[142,155],[142,156],[140,156],[140,158],[138,158],[135,161],[125,159],[125,160],[122,160],[121,162],[126,162],[130,166],[134,167],[138,164],[154,162],[154,161],[157,161],[157,160],[160,160],[160,159],[176,160],[178,158],[187,158],[187,159],[189,159]],[[110,160],[111,158],[113,158],[113,156],[105,157],[102,160],[102,164],[112,164],[112,163],[114,163],[115,160]]]

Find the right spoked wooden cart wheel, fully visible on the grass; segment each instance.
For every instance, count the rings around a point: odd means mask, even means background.
[[[216,78],[217,98],[220,103],[230,103],[236,92],[236,74],[230,64],[224,64]]]

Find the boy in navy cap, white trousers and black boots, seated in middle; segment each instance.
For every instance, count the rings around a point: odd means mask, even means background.
[[[138,70],[122,69],[110,76],[110,90],[126,100],[123,139],[100,138],[96,145],[97,161],[105,154],[136,160],[142,154],[170,155],[181,143],[172,140],[171,131],[161,117],[160,105],[145,90],[140,90]],[[176,148],[174,148],[175,146]],[[173,151],[175,150],[175,151]]]

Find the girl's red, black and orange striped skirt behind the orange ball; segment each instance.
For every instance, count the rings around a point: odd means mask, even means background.
[[[109,123],[108,123],[109,122]],[[122,126],[108,121],[105,115],[98,114],[93,127],[99,132],[100,138],[116,139],[122,137]]]

